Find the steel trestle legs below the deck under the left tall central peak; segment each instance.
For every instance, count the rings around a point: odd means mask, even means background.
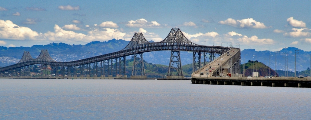
[[[142,53],[134,54],[131,78],[134,78],[134,79],[146,79],[147,78],[146,72],[145,72],[144,60],[142,59]]]

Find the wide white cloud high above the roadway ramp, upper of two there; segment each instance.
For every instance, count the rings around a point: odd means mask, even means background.
[[[230,25],[234,27],[241,27],[241,28],[267,28],[263,23],[255,21],[253,18],[242,19],[242,20],[235,20],[232,18],[228,18],[225,21],[219,21],[218,23],[223,25]]]

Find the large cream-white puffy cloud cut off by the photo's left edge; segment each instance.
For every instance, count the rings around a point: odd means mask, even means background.
[[[20,27],[14,24],[10,20],[0,20],[0,39],[14,39],[14,40],[25,40],[25,39],[39,39],[41,33],[32,31],[28,27]]]

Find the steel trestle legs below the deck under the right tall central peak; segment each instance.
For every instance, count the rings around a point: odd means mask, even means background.
[[[166,78],[184,78],[183,68],[181,67],[180,51],[171,51],[171,58],[169,60],[169,71]],[[173,75],[177,72],[177,75]]]

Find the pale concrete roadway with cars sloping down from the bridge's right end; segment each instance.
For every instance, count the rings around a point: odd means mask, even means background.
[[[230,60],[232,61],[236,61],[234,59],[231,59],[234,56],[240,56],[240,49],[239,48],[232,48],[229,51],[229,56],[227,54],[222,54],[221,56],[219,56],[217,59],[211,61],[210,63],[208,63],[207,65],[203,66],[202,68],[198,69],[197,71],[193,72],[191,77],[192,78],[206,78],[206,77],[211,77],[212,75],[215,74],[215,72],[217,70],[219,70],[222,66],[224,66],[226,63],[228,64],[228,62]],[[231,55],[232,54],[232,55]],[[222,60],[221,60],[222,59]],[[233,62],[233,63],[234,63]],[[219,64],[219,65],[218,65]],[[211,68],[210,68],[211,66]],[[215,69],[213,69],[215,68]],[[208,71],[206,71],[208,69]],[[211,72],[210,72],[211,71]],[[201,75],[201,72],[203,72],[203,75]],[[208,73],[208,74],[207,74]],[[226,76],[226,73],[224,73],[224,75]]]

